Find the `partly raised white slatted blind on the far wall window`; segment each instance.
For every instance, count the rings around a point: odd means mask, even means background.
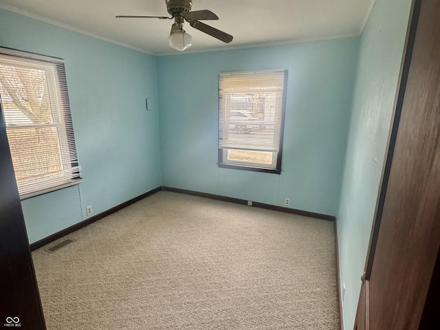
[[[284,70],[219,75],[219,148],[279,152],[285,76]]]

